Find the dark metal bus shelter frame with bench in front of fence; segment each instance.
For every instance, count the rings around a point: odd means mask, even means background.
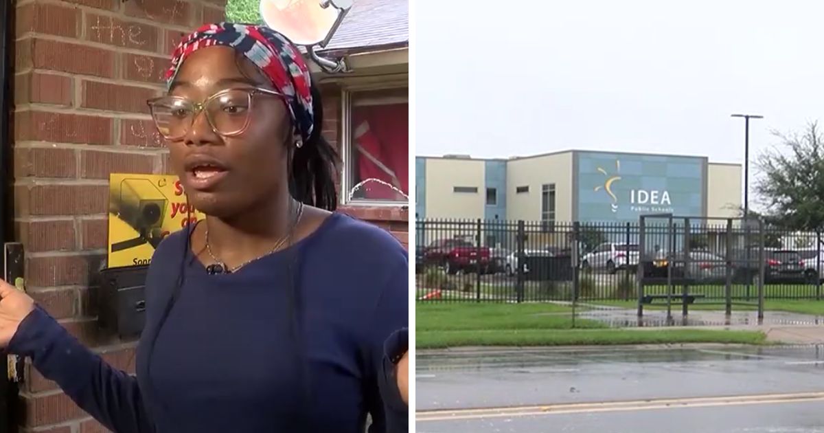
[[[646,214],[639,222],[638,317],[644,305],[756,307],[764,318],[765,227],[761,219]],[[756,303],[752,302],[753,289]]]

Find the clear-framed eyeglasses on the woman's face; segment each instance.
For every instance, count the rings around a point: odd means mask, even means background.
[[[223,137],[243,134],[250,124],[252,96],[289,96],[261,87],[229,88],[209,96],[203,102],[193,102],[182,96],[160,96],[147,101],[157,132],[163,138],[182,139],[194,125],[194,119],[204,111],[212,130]]]

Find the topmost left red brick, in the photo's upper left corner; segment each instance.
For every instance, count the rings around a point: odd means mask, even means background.
[[[18,7],[16,14],[18,37],[30,31],[70,38],[80,35],[81,12],[77,7],[35,2]]]

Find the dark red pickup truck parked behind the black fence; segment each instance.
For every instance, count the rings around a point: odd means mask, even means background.
[[[489,247],[476,247],[463,239],[440,239],[424,250],[424,262],[442,266],[448,274],[459,271],[489,272]]]

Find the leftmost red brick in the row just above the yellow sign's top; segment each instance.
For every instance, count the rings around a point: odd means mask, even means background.
[[[77,161],[68,148],[14,148],[14,177],[76,177]]]

